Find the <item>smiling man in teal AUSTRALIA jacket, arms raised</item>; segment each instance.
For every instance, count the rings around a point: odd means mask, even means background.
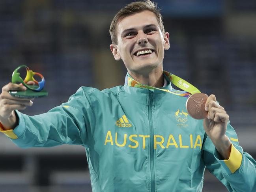
[[[196,120],[185,112],[189,93],[171,87],[173,76],[163,71],[169,34],[156,6],[148,0],[122,8],[110,35],[114,58],[128,71],[124,86],[82,87],[30,117],[17,109],[32,101],[11,97],[9,90],[24,89],[9,83],[0,97],[2,132],[20,147],[83,145],[94,192],[199,192],[205,168],[229,191],[256,191],[256,162],[215,96],[207,99],[207,118]]]

